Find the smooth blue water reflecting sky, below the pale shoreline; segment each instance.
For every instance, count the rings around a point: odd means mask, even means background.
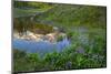
[[[44,42],[44,41],[32,41],[32,40],[22,40],[22,39],[13,39],[13,49],[23,50],[31,53],[49,53],[49,52],[61,52],[64,47],[69,46],[70,41],[64,38],[62,41],[57,43]]]

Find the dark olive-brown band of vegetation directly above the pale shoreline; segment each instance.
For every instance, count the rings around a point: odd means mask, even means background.
[[[53,32],[52,25],[49,24],[42,24],[37,23],[34,21],[31,21],[29,19],[30,17],[26,18],[14,18],[13,22],[13,30],[18,31],[19,33],[26,32],[26,31],[32,31],[32,32],[41,32],[42,34]]]

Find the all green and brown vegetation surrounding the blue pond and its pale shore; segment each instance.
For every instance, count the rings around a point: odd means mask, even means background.
[[[14,72],[107,66],[105,7],[21,1],[16,1],[13,6],[13,30],[19,33],[41,30],[46,34],[58,27],[71,41],[70,46],[62,52],[53,51],[44,56],[13,49]],[[62,39],[59,36],[57,41]]]

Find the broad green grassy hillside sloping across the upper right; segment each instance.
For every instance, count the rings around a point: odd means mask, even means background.
[[[37,15],[37,20],[53,22],[63,28],[105,28],[105,10],[104,7],[58,4],[42,15]]]

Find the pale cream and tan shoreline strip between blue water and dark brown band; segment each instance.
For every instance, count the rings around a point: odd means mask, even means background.
[[[62,36],[62,38],[65,38],[67,34],[65,33],[48,33],[48,34],[38,34],[38,33],[33,33],[31,31],[27,31],[24,33],[22,33],[20,35],[20,33],[18,32],[14,32],[13,33],[13,38],[14,39],[22,39],[22,40],[27,40],[27,41],[47,41],[47,42],[51,42],[51,43],[56,43],[57,42],[57,39],[58,36]]]

